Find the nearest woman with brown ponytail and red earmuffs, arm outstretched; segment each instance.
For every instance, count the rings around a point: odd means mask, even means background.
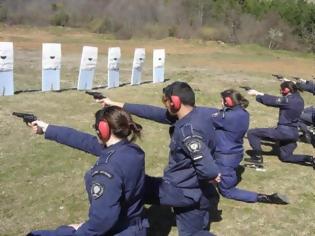
[[[94,124],[97,136],[43,121],[34,121],[31,126],[35,133],[44,133],[46,139],[95,155],[98,160],[85,175],[90,201],[88,220],[28,235],[146,235],[144,152],[132,143],[140,137],[142,127],[128,112],[115,106],[97,111]]]

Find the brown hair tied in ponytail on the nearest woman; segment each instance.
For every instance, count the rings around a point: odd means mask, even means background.
[[[118,106],[104,107],[95,113],[95,124],[106,120],[111,132],[121,139],[134,141],[141,138],[142,126],[134,122],[131,115]]]

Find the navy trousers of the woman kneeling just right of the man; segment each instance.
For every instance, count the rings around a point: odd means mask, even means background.
[[[243,202],[257,202],[257,193],[236,188],[236,168],[242,161],[243,154],[216,153],[214,156],[221,173],[218,187],[222,196]]]

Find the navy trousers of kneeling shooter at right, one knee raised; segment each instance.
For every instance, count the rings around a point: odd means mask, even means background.
[[[254,151],[261,151],[260,141],[262,139],[269,139],[279,141],[279,159],[281,161],[292,163],[306,161],[307,156],[305,155],[293,155],[293,151],[297,147],[297,128],[281,126],[280,128],[250,129],[247,132],[247,138]]]

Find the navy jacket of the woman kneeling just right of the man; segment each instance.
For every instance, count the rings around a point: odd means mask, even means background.
[[[243,153],[243,138],[249,127],[249,114],[237,105],[224,108],[212,115],[215,127],[216,153]]]

